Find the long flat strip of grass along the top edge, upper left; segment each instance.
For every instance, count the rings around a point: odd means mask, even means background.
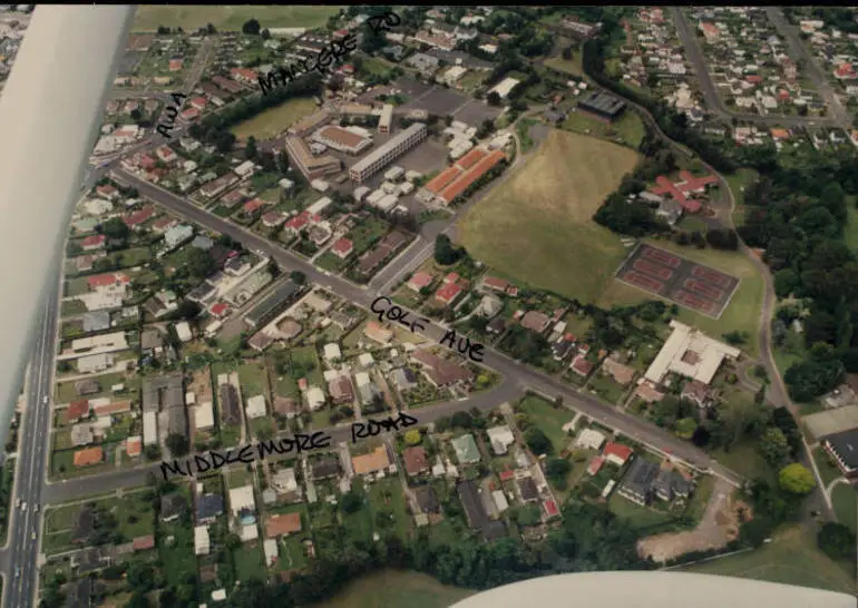
[[[134,17],[133,31],[155,31],[158,26],[183,27],[195,30],[212,23],[218,30],[241,31],[242,24],[251,18],[263,28],[318,28],[323,26],[339,6],[142,6]]]

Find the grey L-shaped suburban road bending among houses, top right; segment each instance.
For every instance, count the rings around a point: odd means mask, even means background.
[[[760,116],[758,114],[737,112],[727,109],[721,97],[718,95],[714,82],[712,82],[712,76],[709,73],[706,61],[703,58],[703,51],[700,48],[694,31],[689,26],[685,14],[680,7],[670,8],[673,22],[676,24],[676,33],[682,40],[682,45],[685,47],[685,53],[694,68],[694,73],[698,77],[698,84],[700,90],[703,94],[703,99],[706,102],[706,107],[718,115],[720,118],[731,120],[743,120],[754,122],[757,125],[767,126],[782,126],[782,127],[796,127],[800,125],[805,126],[833,126],[835,121],[829,117],[806,117],[806,116]]]

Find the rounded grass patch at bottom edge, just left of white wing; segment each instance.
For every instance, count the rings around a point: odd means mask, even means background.
[[[314,608],[446,608],[474,591],[441,585],[419,572],[383,570],[361,577],[338,596]]]

